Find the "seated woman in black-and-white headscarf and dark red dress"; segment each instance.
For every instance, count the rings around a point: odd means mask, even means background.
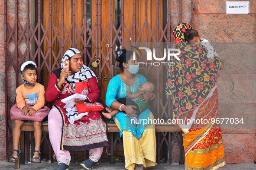
[[[82,166],[91,169],[100,159],[103,147],[108,148],[109,142],[104,121],[98,111],[79,113],[76,106],[64,108],[61,100],[75,93],[75,82],[89,84],[90,92],[86,94],[88,102],[95,102],[100,96],[97,79],[89,67],[83,65],[81,51],[70,48],[62,58],[62,63],[69,60],[70,70],[57,69],[49,80],[45,97],[54,101],[48,116],[49,137],[52,148],[57,156],[57,170],[67,169],[71,160],[69,151],[89,150],[89,159]],[[75,100],[83,103],[84,100]]]

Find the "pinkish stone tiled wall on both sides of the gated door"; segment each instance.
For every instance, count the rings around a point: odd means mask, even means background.
[[[253,163],[256,158],[256,1],[250,1],[250,14],[225,14],[224,0],[194,0],[194,29],[208,39],[225,62],[217,83],[220,117],[243,117],[243,125],[222,125],[227,163]],[[179,22],[179,0],[171,0],[171,22]],[[26,22],[26,1],[19,0],[19,21]],[[24,11],[25,10],[25,11]],[[14,24],[15,1],[8,0],[9,25]],[[191,20],[191,0],[182,0],[182,21]],[[0,3],[0,160],[5,160],[5,81],[4,81],[4,8]],[[241,44],[243,42],[243,44]],[[234,44],[237,43],[237,44]],[[247,43],[247,45],[246,45]],[[19,45],[25,49],[23,42]],[[7,48],[11,53],[14,44]],[[13,70],[8,70],[12,75]],[[9,79],[9,97],[15,98],[15,78]],[[254,130],[253,130],[254,127]],[[172,162],[179,160],[176,141]]]

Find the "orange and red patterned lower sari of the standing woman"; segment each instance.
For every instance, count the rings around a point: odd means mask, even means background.
[[[193,111],[182,114],[178,119],[188,119],[191,114]],[[218,117],[218,92],[215,89],[213,95],[201,104],[194,119],[209,121],[193,123],[188,131],[183,129],[186,170],[215,170],[225,165],[220,124],[214,121]]]

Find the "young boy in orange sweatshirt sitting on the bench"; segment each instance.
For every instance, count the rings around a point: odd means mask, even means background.
[[[36,111],[41,109],[45,104],[45,88],[43,85],[36,82],[37,72],[36,63],[27,61],[20,67],[21,78],[25,82],[16,89],[16,103],[17,107],[21,109],[21,114],[25,116],[33,116]],[[33,107],[27,107],[33,106]],[[10,162],[14,162],[20,156],[19,151],[19,137],[20,127],[23,123],[31,122],[29,120],[14,120],[13,123],[13,151],[10,157]],[[40,144],[42,138],[41,122],[32,121],[35,132],[35,151],[32,158],[33,162],[40,162]]]

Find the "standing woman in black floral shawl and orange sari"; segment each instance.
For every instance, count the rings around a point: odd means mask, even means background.
[[[176,123],[183,131],[185,169],[215,170],[225,166],[220,124],[216,121],[216,79],[221,62],[214,56],[214,62],[207,63],[206,48],[185,41],[190,29],[186,23],[174,28],[175,47],[181,54],[180,60],[173,59],[175,65],[169,68],[166,93],[173,98],[173,117],[183,120]]]

